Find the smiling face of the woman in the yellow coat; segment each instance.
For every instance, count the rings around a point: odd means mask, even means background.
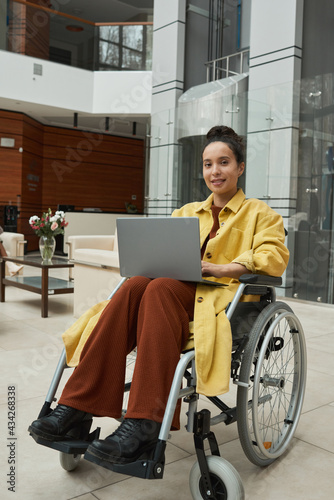
[[[237,192],[237,183],[245,164],[237,163],[233,151],[224,142],[212,142],[203,152],[203,177],[213,192],[213,201],[224,206]]]

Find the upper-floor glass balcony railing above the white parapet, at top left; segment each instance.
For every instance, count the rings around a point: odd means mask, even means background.
[[[91,71],[145,71],[152,66],[152,24],[93,23],[10,0],[7,50]]]

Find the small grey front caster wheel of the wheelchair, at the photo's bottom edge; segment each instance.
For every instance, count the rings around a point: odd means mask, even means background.
[[[208,456],[207,462],[213,489],[211,495],[216,500],[243,500],[245,498],[244,487],[233,465],[215,455]],[[194,500],[207,498],[198,462],[190,471],[189,487]]]

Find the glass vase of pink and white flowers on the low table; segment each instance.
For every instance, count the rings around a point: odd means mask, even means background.
[[[29,219],[31,228],[39,236],[39,251],[45,264],[52,263],[52,257],[56,248],[55,236],[64,234],[64,228],[68,222],[65,221],[65,214],[57,211],[52,214],[51,208],[44,212],[42,217],[33,215]]]

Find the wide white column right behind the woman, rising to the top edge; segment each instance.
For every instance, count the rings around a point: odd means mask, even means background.
[[[304,0],[252,0],[246,195],[285,221],[296,211]],[[291,288],[294,238],[285,275]]]

